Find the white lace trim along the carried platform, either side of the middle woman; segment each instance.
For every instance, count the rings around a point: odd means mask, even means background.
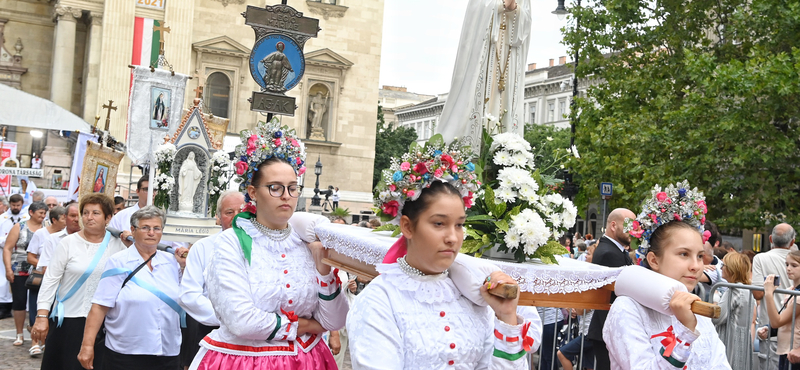
[[[326,248],[376,266],[382,265],[386,252],[397,240],[387,233],[373,233],[369,229],[333,223],[317,225],[315,231]],[[548,294],[579,293],[597,289],[616,281],[621,271],[619,268],[608,268],[559,256],[556,258],[558,265],[547,265],[538,261],[513,263],[492,260],[492,263],[514,278],[522,291]]]

